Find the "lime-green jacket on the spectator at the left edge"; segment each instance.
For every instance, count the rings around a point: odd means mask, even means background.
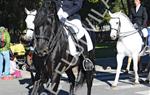
[[[6,45],[3,48],[0,48],[0,52],[9,50],[10,49],[10,35],[4,27],[0,27],[0,32],[4,32],[4,41],[6,42]]]

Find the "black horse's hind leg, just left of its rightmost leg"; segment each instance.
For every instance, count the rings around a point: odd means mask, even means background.
[[[69,95],[74,95],[74,87],[75,87],[75,75],[73,74],[72,69],[68,69],[66,71],[66,74],[69,78],[69,83],[70,83],[70,91]]]

